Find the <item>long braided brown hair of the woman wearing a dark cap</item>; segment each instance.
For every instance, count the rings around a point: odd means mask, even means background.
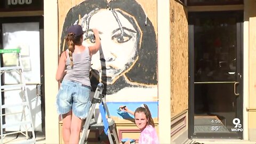
[[[75,45],[80,45],[82,44],[81,43],[81,37],[82,35],[79,35],[79,36],[75,36],[75,34],[73,33],[68,33],[67,36],[66,36],[66,43],[67,43],[67,46],[68,46],[68,55],[69,55],[69,58],[70,58],[70,66],[71,68],[73,68],[73,57],[72,57],[72,54],[75,50]]]

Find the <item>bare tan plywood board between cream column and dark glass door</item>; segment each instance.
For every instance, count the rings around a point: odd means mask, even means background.
[[[188,21],[186,7],[170,1],[171,116],[188,108]]]

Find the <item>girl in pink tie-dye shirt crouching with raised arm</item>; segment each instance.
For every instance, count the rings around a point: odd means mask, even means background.
[[[155,130],[155,123],[151,116],[150,110],[146,104],[141,105],[138,107],[135,112],[128,109],[126,106],[119,107],[120,110],[125,111],[134,115],[135,124],[140,129],[140,138],[139,143],[150,143],[155,144],[159,143],[157,133]],[[125,142],[130,143],[130,141]]]

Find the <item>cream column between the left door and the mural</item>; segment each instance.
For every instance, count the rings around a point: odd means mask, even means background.
[[[59,143],[59,121],[55,107],[58,83],[58,0],[44,1],[45,143]]]

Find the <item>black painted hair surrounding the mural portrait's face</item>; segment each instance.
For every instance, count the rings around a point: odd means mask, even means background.
[[[119,77],[112,85],[105,84],[104,79],[106,78],[101,77],[102,82],[106,86],[105,88],[108,89],[107,94],[113,94],[124,87],[131,87],[134,85],[140,87],[157,85],[157,38],[155,29],[142,9],[142,6],[135,0],[113,0],[109,3],[106,0],[83,1],[72,7],[67,13],[63,23],[60,53],[67,49],[67,47],[63,45],[63,36],[65,36],[63,31],[65,31],[68,26],[74,25],[75,23],[77,24],[79,15],[81,15],[81,17],[87,17],[88,20],[90,20],[90,17],[101,9],[112,11],[115,18],[117,18],[116,12],[122,14],[123,17],[132,23],[137,31],[140,29],[139,31],[141,32],[140,34],[137,34],[137,37],[140,37],[137,44],[137,54],[139,57],[132,68],[126,71],[124,76]],[[81,23],[81,25],[83,25],[83,23]],[[118,23],[118,25],[120,26],[120,23]],[[84,30],[86,31],[86,29]],[[102,71],[104,71],[104,69],[102,69]],[[99,81],[92,83],[98,84],[98,82]],[[106,89],[104,89],[104,93]]]

